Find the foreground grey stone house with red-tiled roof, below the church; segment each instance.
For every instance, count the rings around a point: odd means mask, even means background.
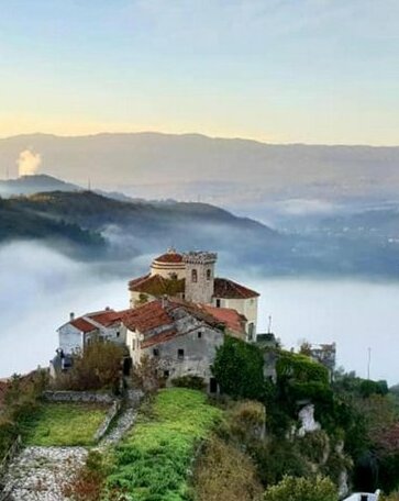
[[[225,333],[245,337],[242,320],[234,311],[219,312],[212,307],[166,298],[126,311],[122,318],[134,366],[147,356],[158,361],[166,380],[198,376],[210,391],[217,390],[211,374],[217,348],[223,344]]]

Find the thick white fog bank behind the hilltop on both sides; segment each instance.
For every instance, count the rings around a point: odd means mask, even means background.
[[[56,329],[77,315],[109,305],[129,305],[128,280],[147,269],[151,256],[115,271],[73,261],[38,244],[0,247],[0,377],[48,365],[57,347]],[[262,293],[259,329],[268,315],[286,347],[301,339],[337,344],[337,363],[366,377],[372,348],[373,379],[399,381],[399,283],[356,280],[257,279],[250,264],[219,256],[220,275]],[[231,266],[229,266],[229,264]]]

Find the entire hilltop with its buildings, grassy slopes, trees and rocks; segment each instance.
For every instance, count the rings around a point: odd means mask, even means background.
[[[380,485],[396,488],[386,381],[335,371],[335,344],[293,353],[259,333],[259,293],[218,277],[217,260],[168,249],[129,281],[125,310],[70,313],[52,377],[0,383],[0,500],[339,501],[367,489],[347,501],[377,501]]]

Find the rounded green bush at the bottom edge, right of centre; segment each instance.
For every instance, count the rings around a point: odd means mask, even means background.
[[[265,492],[265,501],[337,501],[339,494],[328,477],[284,477]]]

